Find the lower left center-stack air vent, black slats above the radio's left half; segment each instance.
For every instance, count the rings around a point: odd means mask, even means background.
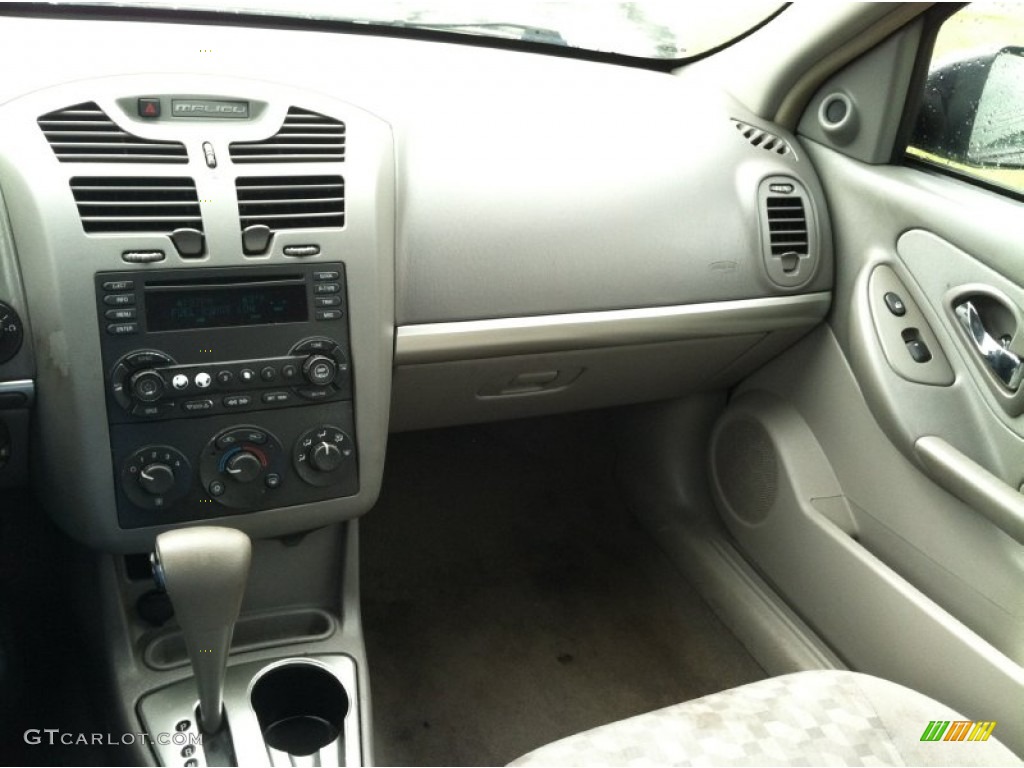
[[[71,190],[89,234],[203,228],[196,182],[159,176],[77,176]]]

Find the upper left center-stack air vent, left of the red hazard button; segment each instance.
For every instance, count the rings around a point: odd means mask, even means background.
[[[36,121],[61,163],[187,163],[180,141],[156,141],[123,130],[94,102],[43,115]]]

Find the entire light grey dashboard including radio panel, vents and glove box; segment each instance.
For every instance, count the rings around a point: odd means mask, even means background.
[[[354,517],[389,430],[721,388],[828,307],[799,145],[685,78],[324,31],[5,27],[0,299],[25,343],[0,379],[34,397],[48,509],[92,546]]]

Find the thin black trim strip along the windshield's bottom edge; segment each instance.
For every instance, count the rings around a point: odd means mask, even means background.
[[[446,30],[390,25],[372,20],[348,20],[321,16],[298,16],[280,13],[239,11],[231,9],[170,8],[157,5],[113,5],[60,2],[4,2],[0,3],[0,17],[22,16],[31,18],[53,18],[102,22],[158,22],[161,24],[196,25],[203,27],[242,27],[303,32],[331,32],[370,37],[390,37],[406,40],[469,45],[478,48],[496,48],[525,53],[539,53],[557,58],[574,58],[599,63],[620,65],[653,72],[671,73],[685,65],[713,56],[739,41],[750,37],[782,13],[791,3],[783,3],[760,23],[741,34],[708,50],[677,58],[652,58],[627,53],[554,45],[532,40],[516,40],[484,35],[465,34]]]

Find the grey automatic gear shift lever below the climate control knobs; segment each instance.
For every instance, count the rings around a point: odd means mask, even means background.
[[[205,733],[223,724],[224,671],[251,559],[249,537],[234,528],[178,528],[157,537],[154,575],[185,637]]]

